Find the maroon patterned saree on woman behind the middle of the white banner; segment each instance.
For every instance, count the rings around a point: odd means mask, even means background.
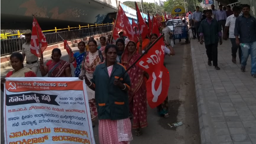
[[[69,67],[70,71],[70,63],[64,60],[60,60],[58,62],[49,60],[46,63],[46,66],[48,67],[48,77],[72,77],[71,72],[70,75],[65,75],[65,69]]]

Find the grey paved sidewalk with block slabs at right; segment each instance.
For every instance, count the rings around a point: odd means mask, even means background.
[[[232,63],[231,42],[218,46],[218,66],[207,65],[204,44],[191,39],[201,144],[256,144],[256,79]]]

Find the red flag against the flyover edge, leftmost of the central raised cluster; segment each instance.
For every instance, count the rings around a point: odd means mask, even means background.
[[[114,39],[119,38],[119,35],[118,35],[119,31],[123,31],[123,35],[129,38],[136,37],[135,31],[131,26],[129,19],[125,15],[125,12],[123,11],[123,8],[121,6],[119,6],[119,10],[117,13],[117,21],[113,30]]]

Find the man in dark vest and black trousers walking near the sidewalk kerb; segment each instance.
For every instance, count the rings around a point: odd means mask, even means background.
[[[206,19],[201,22],[199,27],[200,44],[203,44],[203,36],[208,57],[208,65],[211,66],[212,62],[216,70],[218,67],[218,42],[221,45],[221,27],[216,19],[212,18],[212,11],[206,10]]]

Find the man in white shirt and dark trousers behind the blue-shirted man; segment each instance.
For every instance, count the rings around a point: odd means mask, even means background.
[[[224,33],[224,40],[227,40],[227,31],[229,30],[229,38],[232,44],[231,52],[232,52],[232,62],[236,63],[236,57],[237,57],[237,49],[238,49],[238,55],[239,55],[239,61],[241,63],[241,56],[242,56],[242,50],[241,46],[237,46],[235,42],[235,21],[237,17],[239,17],[240,8],[238,6],[234,6],[232,8],[233,15],[230,15],[227,17],[227,21],[225,24],[225,33]]]

